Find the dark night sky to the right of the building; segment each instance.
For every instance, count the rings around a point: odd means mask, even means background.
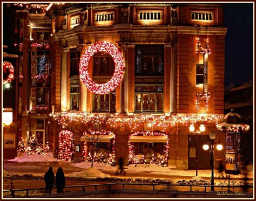
[[[225,27],[225,85],[253,79],[253,4],[227,3]]]

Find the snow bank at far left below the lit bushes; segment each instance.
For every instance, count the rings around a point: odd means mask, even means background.
[[[15,161],[15,162],[54,162],[58,161],[55,157],[53,157],[52,153],[46,153],[45,155],[29,155],[29,156],[17,156],[16,158],[8,161]]]

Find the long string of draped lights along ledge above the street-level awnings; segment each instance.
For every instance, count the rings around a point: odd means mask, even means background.
[[[56,114],[50,114],[52,118],[56,121],[58,121],[58,124],[65,128],[66,126],[69,126],[72,122],[79,122],[81,124],[87,124],[91,122],[92,120],[95,120],[95,115],[93,114],[87,114],[83,112],[78,113],[56,113]],[[100,119],[100,116],[98,116]],[[143,115],[134,115],[134,116],[127,116],[127,117],[121,117],[118,115],[111,115],[110,118],[107,120],[106,124],[108,124],[110,127],[118,128],[118,127],[127,127],[131,130],[131,133],[133,131],[138,130],[144,125],[144,122],[151,123],[154,127],[159,127],[161,131],[166,131],[168,127],[170,126],[176,126],[177,123],[179,124],[188,124],[188,123],[196,123],[198,121],[204,121],[204,122],[214,122],[218,123],[223,119],[223,116],[218,115],[212,115],[212,116],[181,116],[181,115],[171,115],[171,116],[165,116],[165,115],[151,115],[151,114],[143,114]],[[159,130],[158,129],[158,130]]]

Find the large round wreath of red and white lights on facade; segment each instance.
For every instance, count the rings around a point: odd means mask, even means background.
[[[97,84],[96,82],[92,81],[89,73],[89,60],[96,52],[106,52],[111,55],[114,60],[114,74],[111,80],[104,84]],[[118,48],[107,42],[99,41],[97,43],[93,43],[90,45],[83,57],[80,59],[80,79],[84,82],[87,89],[95,94],[106,94],[113,91],[116,88],[121,80],[123,79],[123,70],[124,70],[124,60],[122,57],[121,52]]]

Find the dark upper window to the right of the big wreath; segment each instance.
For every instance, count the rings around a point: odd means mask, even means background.
[[[161,45],[136,46],[135,75],[163,76],[164,47]]]

